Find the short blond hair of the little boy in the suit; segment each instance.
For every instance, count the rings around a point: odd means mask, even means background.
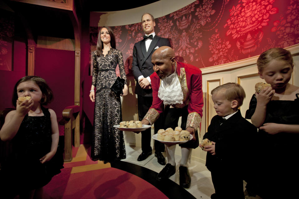
[[[226,83],[220,86],[217,86],[211,91],[211,95],[216,94],[218,92],[223,92],[225,98],[229,101],[237,100],[238,106],[242,106],[243,100],[246,97],[245,91],[240,84],[237,83]]]

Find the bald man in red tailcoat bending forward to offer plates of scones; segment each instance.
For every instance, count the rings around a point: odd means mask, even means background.
[[[163,112],[164,129],[178,126],[182,116],[181,128],[193,135],[193,139],[180,144],[182,158],[179,167],[180,185],[188,188],[191,178],[187,161],[192,149],[199,146],[197,128],[202,118],[202,72],[197,67],[175,61],[175,53],[168,46],[162,46],[152,55],[155,73],[150,76],[153,89],[153,104],[146,113],[143,124],[152,124]],[[164,111],[163,111],[164,108]],[[175,173],[174,151],[176,145],[165,145],[168,164],[157,175],[161,181]]]

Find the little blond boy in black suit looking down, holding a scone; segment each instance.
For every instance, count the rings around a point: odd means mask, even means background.
[[[244,199],[243,179],[250,175],[245,158],[253,158],[252,144],[257,128],[238,110],[245,98],[244,89],[239,84],[218,86],[211,95],[217,115],[212,118],[203,137],[212,141],[212,145],[204,146],[208,152],[206,167],[211,171],[215,188],[211,198]]]

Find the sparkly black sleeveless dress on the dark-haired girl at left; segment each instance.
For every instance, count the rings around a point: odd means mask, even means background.
[[[50,112],[43,107],[42,111],[44,116],[27,114],[10,141],[7,161],[0,170],[1,194],[7,198],[45,186],[63,168],[63,156],[59,150],[49,162],[40,163],[40,158],[50,152],[52,143]]]

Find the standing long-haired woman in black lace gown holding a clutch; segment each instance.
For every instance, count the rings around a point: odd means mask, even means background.
[[[123,56],[115,48],[112,30],[102,27],[97,39],[97,50],[93,52],[93,79],[89,97],[95,102],[91,157],[104,163],[126,158],[123,132],[113,127],[122,120],[121,98],[110,89],[117,79],[117,64],[121,78],[125,79],[121,96],[128,93]]]

